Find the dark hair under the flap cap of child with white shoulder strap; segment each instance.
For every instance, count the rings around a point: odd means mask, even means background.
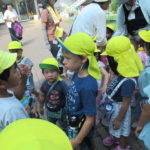
[[[114,57],[107,56],[107,59],[109,62],[110,69],[114,72],[114,74],[118,75],[119,74],[117,71],[118,63],[114,60]]]

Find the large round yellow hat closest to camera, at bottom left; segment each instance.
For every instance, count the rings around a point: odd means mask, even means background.
[[[22,119],[8,125],[0,133],[0,148],[1,150],[72,150],[66,134],[56,125],[41,119]]]

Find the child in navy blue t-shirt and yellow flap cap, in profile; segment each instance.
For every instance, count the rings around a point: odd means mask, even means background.
[[[64,66],[74,71],[67,95],[68,136],[73,148],[92,147],[93,126],[96,115],[97,81],[101,77],[94,56],[96,45],[85,33],[76,33],[67,38],[63,48]]]

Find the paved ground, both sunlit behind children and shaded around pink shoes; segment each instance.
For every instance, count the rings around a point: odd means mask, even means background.
[[[62,23],[62,27],[66,32],[70,30],[70,24]],[[36,82],[37,87],[41,84],[43,80],[43,76],[41,74],[41,70],[38,67],[38,64],[45,58],[51,57],[50,52],[45,48],[44,41],[41,33],[41,23],[39,21],[30,21],[23,23],[24,34],[23,34],[23,49],[24,55],[31,58],[34,62],[33,74],[34,80]],[[7,51],[7,45],[10,42],[10,36],[8,30],[5,25],[0,25],[0,49]],[[107,129],[103,126],[99,125],[96,130],[94,143],[96,145],[95,150],[111,150],[113,147],[107,148],[103,146],[102,139],[108,135]],[[145,150],[143,144],[137,140],[137,138],[133,134],[129,139],[129,144],[131,146],[131,150]]]

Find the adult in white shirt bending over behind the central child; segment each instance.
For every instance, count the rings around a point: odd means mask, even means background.
[[[110,0],[93,0],[77,16],[72,26],[71,34],[84,32],[92,38],[97,37],[97,46],[105,46],[106,39],[106,14]]]

